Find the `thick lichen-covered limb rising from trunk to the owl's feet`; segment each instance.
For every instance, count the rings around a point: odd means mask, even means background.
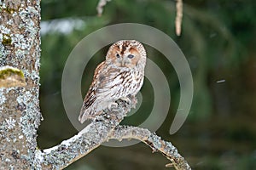
[[[137,99],[131,100],[131,104],[118,101],[118,107],[106,110],[96,121],[84,127],[77,135],[67,139],[52,148],[36,152],[34,165],[42,165],[40,169],[61,169],[70,165],[73,161],[86,156],[103,142],[107,141],[114,127],[119,125],[131,107],[137,103]]]

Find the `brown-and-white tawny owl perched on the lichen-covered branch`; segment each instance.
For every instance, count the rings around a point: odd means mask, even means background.
[[[79,122],[94,119],[118,99],[135,96],[143,86],[146,51],[135,40],[121,40],[108,49],[106,60],[96,67],[85,95]]]

